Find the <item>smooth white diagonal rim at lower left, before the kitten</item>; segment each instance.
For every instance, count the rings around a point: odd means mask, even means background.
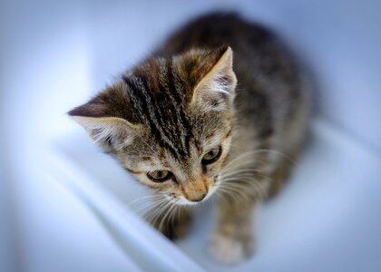
[[[203,271],[188,257],[175,250],[170,241],[135,217],[129,207],[109,193],[107,187],[99,186],[96,180],[86,175],[81,164],[67,160],[64,154],[57,155],[58,152],[48,155],[48,160],[52,163],[50,169],[55,179],[60,180],[73,195],[82,200],[82,204],[108,231],[115,245],[122,249],[128,259],[137,264],[134,266],[130,263],[125,269],[131,271],[138,270],[139,267],[142,271]],[[93,155],[96,157],[96,154]],[[81,159],[89,160],[95,157],[85,156]],[[115,171],[112,168],[106,168],[103,164],[102,170],[108,174],[109,180],[114,179]],[[119,188],[125,188],[125,180],[119,181],[121,182]],[[137,197],[133,191],[131,193],[132,199]]]

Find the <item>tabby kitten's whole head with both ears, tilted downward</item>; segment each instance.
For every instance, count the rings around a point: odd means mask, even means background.
[[[69,112],[143,184],[192,204],[218,186],[230,151],[230,47],[151,58]]]

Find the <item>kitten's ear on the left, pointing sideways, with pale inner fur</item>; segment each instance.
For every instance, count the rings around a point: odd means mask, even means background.
[[[117,90],[109,88],[90,102],[68,112],[74,121],[83,126],[91,140],[106,151],[119,150],[126,146],[139,130],[138,124],[123,118],[122,112],[118,112],[118,104],[113,99],[121,102],[125,97],[118,96]],[[124,107],[127,106],[124,104]]]

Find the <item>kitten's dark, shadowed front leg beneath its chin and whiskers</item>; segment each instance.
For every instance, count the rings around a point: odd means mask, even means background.
[[[183,238],[190,229],[192,213],[190,209],[177,207],[168,209],[151,222],[152,226],[157,228],[167,238],[175,240]]]

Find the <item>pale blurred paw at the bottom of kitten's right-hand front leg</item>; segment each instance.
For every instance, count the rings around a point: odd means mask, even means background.
[[[250,257],[254,252],[251,236],[214,233],[210,238],[210,255],[226,265],[237,264]]]

